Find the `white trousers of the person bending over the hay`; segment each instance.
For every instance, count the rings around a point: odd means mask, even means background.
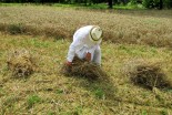
[[[101,49],[97,46],[94,50],[88,51],[85,46],[83,46],[80,51],[75,52],[79,59],[85,59],[87,53],[91,53],[91,62],[101,65]]]

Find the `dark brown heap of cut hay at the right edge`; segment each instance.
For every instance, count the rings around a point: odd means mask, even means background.
[[[136,85],[151,90],[153,87],[172,87],[172,81],[165,75],[165,73],[163,73],[159,64],[133,64],[132,69],[129,70],[130,79]]]

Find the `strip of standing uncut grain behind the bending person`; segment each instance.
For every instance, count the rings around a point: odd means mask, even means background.
[[[57,7],[0,7],[0,30],[71,39],[75,29],[98,24],[104,40],[155,46],[172,45],[171,10],[84,10]],[[151,39],[150,39],[151,38]]]

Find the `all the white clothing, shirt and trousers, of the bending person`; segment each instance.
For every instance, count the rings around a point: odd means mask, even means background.
[[[89,39],[92,28],[93,25],[87,25],[75,31],[73,35],[73,42],[69,46],[67,58],[69,62],[73,61],[74,55],[77,55],[79,59],[84,59],[89,52],[91,53],[91,61],[97,64],[101,64],[101,41],[95,43]]]

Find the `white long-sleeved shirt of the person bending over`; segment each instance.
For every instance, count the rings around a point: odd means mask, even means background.
[[[73,42],[69,46],[68,58],[67,60],[69,62],[73,61],[73,58],[75,55],[75,52],[80,51],[83,46],[88,49],[88,52],[92,53],[101,43],[99,42],[92,42],[90,38],[90,31],[94,25],[87,25],[83,28],[80,28],[75,31],[73,34]]]

